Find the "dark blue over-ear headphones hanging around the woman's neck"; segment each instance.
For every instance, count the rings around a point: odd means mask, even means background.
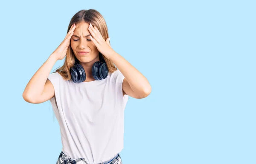
[[[108,67],[107,64],[102,56],[102,54],[99,52],[99,60],[93,63],[93,78],[95,80],[102,80],[108,77]],[[77,58],[75,59],[75,64],[73,67],[70,68],[70,74],[71,79],[74,83],[80,83],[85,81],[86,74],[84,71],[84,68],[79,64],[79,61]]]

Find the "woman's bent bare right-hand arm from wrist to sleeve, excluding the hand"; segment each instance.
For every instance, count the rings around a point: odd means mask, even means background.
[[[125,77],[122,83],[124,95],[145,98],[151,93],[151,85],[148,80],[131,63],[114,51],[109,57]]]

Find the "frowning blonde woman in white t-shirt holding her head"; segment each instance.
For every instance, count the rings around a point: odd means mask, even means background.
[[[122,164],[128,96],[145,98],[148,80],[110,45],[108,28],[94,10],[77,12],[67,35],[27,84],[29,103],[50,100],[61,130],[57,164]],[[65,62],[50,74],[57,60]]]

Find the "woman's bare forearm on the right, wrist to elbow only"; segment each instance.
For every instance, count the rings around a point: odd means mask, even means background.
[[[151,86],[145,78],[145,76],[140,73],[134,66],[131,65],[125,58],[119,55],[116,52],[111,53],[111,60],[116,65],[116,67],[120,70],[122,75],[125,76],[131,89],[140,94],[140,93],[150,93]]]

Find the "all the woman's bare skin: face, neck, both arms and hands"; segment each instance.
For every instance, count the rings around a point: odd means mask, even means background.
[[[77,37],[74,35],[77,35]],[[85,35],[91,36],[83,37]],[[124,75],[125,78],[122,82],[123,95],[129,95],[133,98],[145,98],[151,93],[151,85],[147,78],[112,49],[109,42],[110,37],[105,40],[97,27],[89,26],[88,23],[83,22],[77,23],[76,26],[74,25],[70,28],[70,32],[68,32],[64,41],[30,79],[23,92],[25,101],[39,104],[54,97],[54,87],[47,77],[56,61],[62,60],[66,55],[69,40],[76,58],[78,58],[79,63],[87,74],[86,81],[94,81],[91,69],[93,63],[99,61],[99,52],[101,52]],[[78,55],[77,52],[81,50],[88,51],[89,53],[84,56]]]

